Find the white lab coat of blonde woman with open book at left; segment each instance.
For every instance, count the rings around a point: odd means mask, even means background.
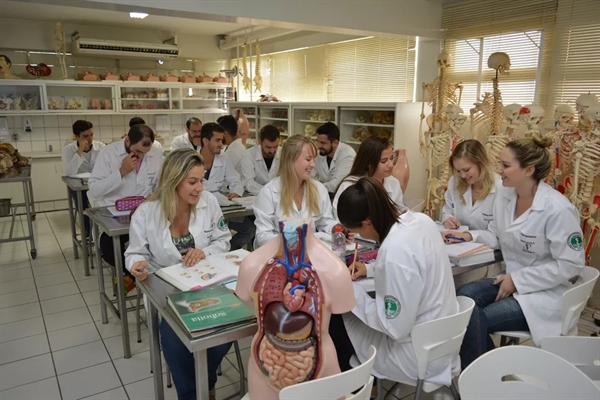
[[[169,222],[162,221],[160,203],[144,202],[131,217],[129,247],[125,252],[125,266],[148,261],[153,267],[169,267],[181,262],[181,254],[173,244]],[[203,191],[196,206],[196,215],[190,215],[189,231],[195,248],[207,256],[229,251],[231,232],[227,227],[215,196]]]

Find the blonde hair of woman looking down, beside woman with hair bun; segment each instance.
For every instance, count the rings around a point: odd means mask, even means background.
[[[461,196],[460,201],[462,204],[465,204],[463,195],[469,190],[469,184],[460,177],[458,171],[454,168],[454,160],[459,158],[466,158],[479,167],[479,180],[481,181],[483,188],[479,193],[473,192],[473,200],[485,199],[496,184],[493,166],[485,151],[485,147],[483,147],[478,140],[468,139],[460,142],[454,148],[454,151],[450,156],[450,171],[452,171],[454,179],[456,180],[456,190]]]

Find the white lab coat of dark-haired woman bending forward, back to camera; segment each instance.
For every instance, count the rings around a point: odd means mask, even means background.
[[[361,362],[377,348],[374,375],[399,381],[418,378],[410,333],[413,327],[458,312],[452,268],[444,241],[427,215],[407,211],[381,243],[375,298],[354,283],[356,304],[344,325]],[[458,355],[429,364],[427,381],[449,385]]]

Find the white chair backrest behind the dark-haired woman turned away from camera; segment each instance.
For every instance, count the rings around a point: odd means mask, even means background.
[[[411,331],[419,379],[425,379],[431,361],[460,351],[475,302],[465,296],[456,300],[458,313],[415,325]]]

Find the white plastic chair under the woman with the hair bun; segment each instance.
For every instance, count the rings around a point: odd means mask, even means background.
[[[562,336],[577,336],[577,321],[590,297],[590,293],[594,289],[598,275],[600,275],[598,269],[583,267],[581,274],[583,282],[563,294],[561,309],[562,329],[560,333]],[[511,342],[519,344],[520,339],[531,339],[529,331],[500,331],[494,333],[501,337],[500,346]]]

